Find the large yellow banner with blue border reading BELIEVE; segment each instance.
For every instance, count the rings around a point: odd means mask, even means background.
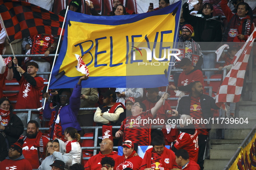
[[[68,11],[65,35],[50,88],[73,88],[83,76],[75,54],[90,78],[84,88],[153,88],[168,84],[171,54],[178,41],[181,1],[149,13],[89,16]],[[151,54],[151,55],[149,55]]]

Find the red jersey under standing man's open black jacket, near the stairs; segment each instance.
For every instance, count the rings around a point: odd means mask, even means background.
[[[197,120],[203,118],[204,120],[204,115],[201,109],[201,103],[200,103],[200,97],[193,97],[191,96],[191,103],[190,103],[190,116],[191,118]],[[194,122],[193,122],[194,123]],[[206,127],[206,124],[202,122],[202,124],[195,123],[194,127],[198,131],[198,135],[208,135],[208,130]]]

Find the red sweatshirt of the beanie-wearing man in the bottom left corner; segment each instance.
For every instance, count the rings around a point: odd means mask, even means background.
[[[32,166],[28,160],[25,159],[23,154],[15,160],[6,157],[5,160],[0,162],[0,170],[32,170]]]

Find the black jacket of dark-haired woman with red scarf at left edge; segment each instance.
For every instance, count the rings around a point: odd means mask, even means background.
[[[22,121],[19,119],[18,116],[16,116],[16,114],[13,114],[13,112],[11,111],[10,122],[7,126],[5,126],[5,129],[3,131],[6,135],[6,139],[8,140],[8,147],[10,147],[10,145],[12,145],[13,143],[17,142],[23,131],[24,126]]]

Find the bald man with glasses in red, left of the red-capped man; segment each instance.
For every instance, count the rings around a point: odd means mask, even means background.
[[[121,157],[117,154],[116,151],[113,151],[113,141],[109,138],[102,140],[100,143],[100,152],[92,156],[87,161],[87,163],[84,165],[84,170],[99,170],[101,167],[100,161],[103,157],[112,157],[114,160],[117,157]]]

